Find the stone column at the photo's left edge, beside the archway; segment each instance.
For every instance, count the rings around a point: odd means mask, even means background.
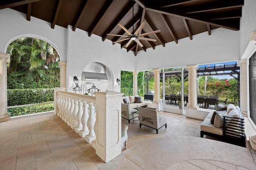
[[[9,120],[7,114],[7,62],[10,62],[10,54],[0,53],[0,122]]]

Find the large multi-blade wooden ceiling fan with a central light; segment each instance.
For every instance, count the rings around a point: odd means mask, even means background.
[[[126,27],[124,27],[124,25],[122,25],[121,23],[118,23],[118,25],[124,29],[124,31],[126,33],[128,33],[128,35],[117,35],[117,34],[107,34],[107,35],[113,35],[113,36],[119,36],[119,37],[126,37],[125,39],[121,39],[121,40],[118,40],[118,41],[115,41],[113,43],[118,43],[120,41],[125,41],[125,40],[128,40],[128,43],[126,44],[125,47],[128,47],[130,45],[130,43],[132,41],[135,41],[136,43],[138,43],[138,45],[140,45],[140,47],[143,47],[143,44],[140,42],[140,40],[146,40],[146,41],[156,41],[156,39],[151,39],[151,38],[145,38],[143,36],[145,35],[150,35],[150,34],[153,34],[153,33],[159,33],[160,30],[156,30],[156,31],[151,31],[151,32],[148,32],[148,33],[142,33],[142,34],[139,34],[141,32],[141,30],[145,27],[146,25],[146,21],[143,21],[142,24],[138,27],[138,29],[134,32],[134,6],[132,6],[132,21],[133,21],[133,25],[132,25],[132,33],[126,29]]]

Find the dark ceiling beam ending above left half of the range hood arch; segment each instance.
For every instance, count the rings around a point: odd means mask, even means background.
[[[98,15],[96,16],[96,18],[94,19],[92,25],[90,26],[90,29],[88,31],[88,36],[90,37],[93,32],[95,31],[95,29],[98,27],[98,24],[100,23],[100,20],[102,20],[102,17],[104,16],[104,14],[107,12],[107,10],[109,9],[110,5],[113,3],[113,0],[107,0],[106,3],[104,4],[104,6],[102,7],[102,9],[100,9],[100,12],[98,13]]]

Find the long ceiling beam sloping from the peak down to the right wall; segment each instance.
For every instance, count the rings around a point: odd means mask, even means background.
[[[162,8],[161,10],[153,9],[153,8],[146,8],[146,10],[149,10],[149,11],[152,11],[152,12],[158,12],[158,13],[161,13],[161,14],[174,16],[174,17],[182,18],[182,19],[186,19],[186,20],[196,21],[196,22],[199,22],[199,23],[210,24],[210,25],[213,25],[213,26],[222,27],[222,28],[226,28],[226,29],[231,29],[231,30],[235,30],[235,31],[238,31],[240,29],[239,23],[234,25],[232,23],[228,23],[227,21],[218,22],[217,20],[209,20],[208,21],[208,20],[203,20],[202,18],[193,18],[191,15],[183,14],[183,13],[177,14],[174,11],[166,10],[166,8]]]

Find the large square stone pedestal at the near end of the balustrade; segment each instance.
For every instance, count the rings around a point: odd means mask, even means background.
[[[109,162],[121,154],[121,103],[123,93],[98,92],[96,96],[96,154]]]

